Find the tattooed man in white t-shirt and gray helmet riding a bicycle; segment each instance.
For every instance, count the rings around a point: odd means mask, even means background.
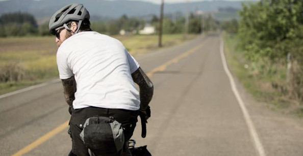
[[[80,133],[86,119],[93,116],[111,117],[121,123],[124,135],[122,149],[107,146],[111,141],[108,138],[115,137],[111,135],[99,140],[104,144],[97,153],[131,155],[127,142],[133,135],[138,112],[146,119],[150,117],[153,83],[121,42],[92,31],[89,17],[82,4],[70,4],[49,21],[49,32],[56,36],[59,76],[71,114],[69,155],[89,155],[88,144]]]

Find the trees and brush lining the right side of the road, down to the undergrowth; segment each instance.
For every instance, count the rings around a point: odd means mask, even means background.
[[[272,86],[303,101],[303,1],[262,0],[242,8],[240,20],[222,28],[237,34],[238,47],[259,76],[282,77],[285,82]]]

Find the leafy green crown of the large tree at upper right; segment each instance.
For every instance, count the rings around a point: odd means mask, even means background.
[[[250,60],[284,58],[290,49],[287,43],[298,37],[302,24],[301,1],[269,1],[243,5],[240,11],[240,47]],[[283,50],[285,49],[285,50]]]

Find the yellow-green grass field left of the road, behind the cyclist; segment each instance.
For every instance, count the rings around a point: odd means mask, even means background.
[[[158,36],[113,36],[132,55],[158,48]],[[195,38],[189,35],[163,35],[163,47]],[[58,78],[55,37],[0,38],[0,94]]]

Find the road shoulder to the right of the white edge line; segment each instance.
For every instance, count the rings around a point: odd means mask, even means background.
[[[303,120],[269,109],[269,104],[255,100],[235,76],[234,78],[266,155],[303,155]]]

